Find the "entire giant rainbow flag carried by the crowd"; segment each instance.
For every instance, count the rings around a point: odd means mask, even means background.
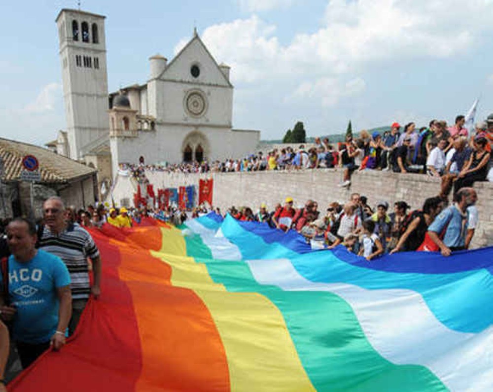
[[[368,262],[214,214],[91,232],[99,300],[10,391],[493,391],[493,251]]]

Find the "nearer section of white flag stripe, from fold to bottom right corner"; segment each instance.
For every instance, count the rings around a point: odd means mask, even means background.
[[[277,285],[286,291],[330,291],[342,297],[354,310],[368,341],[387,360],[426,366],[452,391],[493,391],[493,327],[479,334],[453,331],[412,290],[314,283],[287,259],[247,263],[262,285]]]

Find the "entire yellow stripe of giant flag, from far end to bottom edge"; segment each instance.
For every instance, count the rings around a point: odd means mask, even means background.
[[[178,229],[166,229],[165,236],[161,251],[151,254],[171,266],[174,286],[194,290],[209,309],[228,358],[231,390],[315,391],[279,309],[258,293],[227,292],[205,264],[185,256]]]

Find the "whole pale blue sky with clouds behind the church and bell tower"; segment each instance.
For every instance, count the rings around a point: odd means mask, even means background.
[[[77,1],[0,3],[0,136],[42,144],[64,129],[55,17]],[[97,1],[106,15],[109,90],[144,83],[194,25],[231,66],[233,125],[280,139],[454,121],[479,96],[493,112],[493,2],[483,0]]]

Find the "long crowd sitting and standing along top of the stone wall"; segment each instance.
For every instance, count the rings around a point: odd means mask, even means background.
[[[344,143],[330,143],[328,138],[315,138],[314,143],[298,148],[286,146],[242,159],[181,164],[138,165],[121,164],[145,182],[144,172],[168,173],[250,172],[267,170],[300,170],[344,168],[341,186],[351,184],[356,170],[392,170],[397,173],[421,173],[442,178],[442,197],[475,181],[493,180],[491,148],[493,117],[475,125],[470,134],[464,127],[465,118],[458,115],[453,126],[446,121],[431,120],[427,127],[416,128],[414,122],[404,127],[397,122],[384,133],[361,131],[357,137],[348,135]],[[402,131],[401,131],[402,128]]]

